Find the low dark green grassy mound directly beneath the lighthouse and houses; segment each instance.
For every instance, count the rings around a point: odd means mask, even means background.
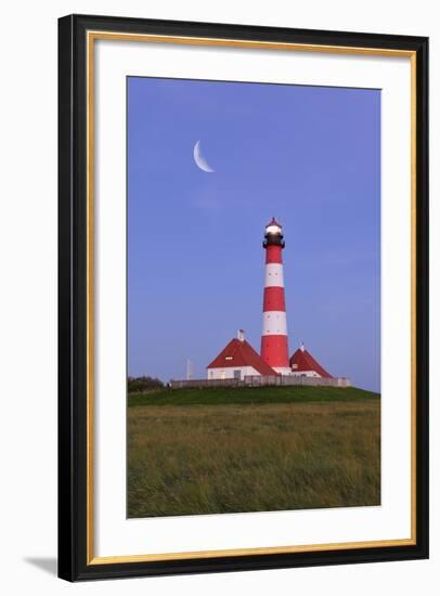
[[[189,387],[131,393],[128,406],[307,403],[379,398],[379,393],[355,387]]]

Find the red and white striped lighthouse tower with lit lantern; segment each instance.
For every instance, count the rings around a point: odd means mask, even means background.
[[[283,228],[272,218],[266,226],[266,276],[262,313],[261,358],[282,375],[290,375],[286,303],[284,299]]]

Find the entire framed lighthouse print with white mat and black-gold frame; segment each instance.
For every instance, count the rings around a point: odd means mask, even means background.
[[[428,40],[59,22],[59,574],[428,557]]]

